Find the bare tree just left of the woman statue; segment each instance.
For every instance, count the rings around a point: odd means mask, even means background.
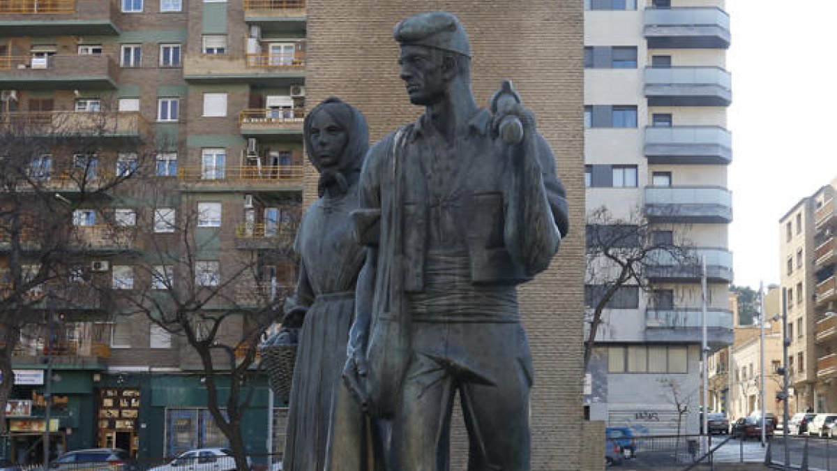
[[[241,426],[254,395],[258,345],[281,318],[292,289],[297,221],[244,222],[235,228],[240,246],[218,249],[222,233],[231,229],[221,225],[220,206],[202,206],[198,197],[186,194],[175,210],[166,196],[146,195],[153,210],[141,224],[145,236],[141,253],[131,260],[136,280],[131,289],[110,284],[97,289],[116,299],[121,313],[141,314],[185,341],[181,353],[197,356],[208,411],[229,441],[236,467],[247,471]],[[268,277],[266,267],[286,270]]]

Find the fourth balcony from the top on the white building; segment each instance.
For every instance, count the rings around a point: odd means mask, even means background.
[[[652,222],[726,224],[732,193],[721,187],[645,187],[645,215]]]

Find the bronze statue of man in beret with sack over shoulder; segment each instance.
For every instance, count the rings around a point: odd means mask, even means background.
[[[510,84],[480,109],[470,44],[450,13],[395,27],[413,124],[370,149],[357,235],[367,260],[344,378],[392,419],[394,469],[443,471],[458,391],[469,469],[530,466],[531,354],[516,285],[567,235],[552,151]]]

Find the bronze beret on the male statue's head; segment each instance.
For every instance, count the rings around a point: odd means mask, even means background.
[[[427,46],[470,57],[468,34],[459,18],[447,12],[426,12],[404,18],[395,25],[395,40],[401,45]]]

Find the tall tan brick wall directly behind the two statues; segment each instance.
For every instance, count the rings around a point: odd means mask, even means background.
[[[583,11],[581,2],[532,0],[308,1],[309,106],[340,96],[367,116],[377,141],[423,111],[407,100],[398,79],[395,23],[413,13],[444,9],[470,34],[477,102],[485,105],[502,79],[514,80],[552,144],[567,186],[572,234],[552,268],[521,287],[521,311],[535,360],[532,391],[532,469],[581,468],[583,327]],[[316,172],[306,173],[306,201]],[[461,434],[461,431],[460,431]],[[461,437],[461,435],[460,435]],[[454,437],[454,468],[465,448]]]

